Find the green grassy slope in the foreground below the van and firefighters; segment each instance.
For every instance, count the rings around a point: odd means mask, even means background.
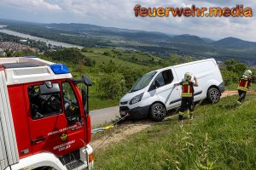
[[[149,127],[96,151],[96,169],[255,169],[256,101],[230,109],[237,96],[201,105],[198,119]],[[177,120],[177,116],[172,120]]]

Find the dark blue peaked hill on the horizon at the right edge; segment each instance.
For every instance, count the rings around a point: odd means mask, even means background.
[[[256,42],[248,42],[236,37],[226,37],[216,42],[212,42],[212,44],[219,47],[256,48]]]

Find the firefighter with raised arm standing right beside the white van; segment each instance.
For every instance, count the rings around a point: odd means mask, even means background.
[[[194,111],[194,86],[198,86],[196,77],[194,76],[195,82],[191,81],[192,75],[189,72],[186,72],[182,82],[174,84],[175,86],[182,86],[182,102],[180,111],[178,113],[178,119],[182,120],[185,111],[189,108],[189,118],[192,118]]]

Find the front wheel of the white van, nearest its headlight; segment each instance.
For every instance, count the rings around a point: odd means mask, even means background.
[[[150,108],[149,116],[155,122],[162,121],[166,117],[165,106],[160,103],[156,103],[156,104],[152,105]]]

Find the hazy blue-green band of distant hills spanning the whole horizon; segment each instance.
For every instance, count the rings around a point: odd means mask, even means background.
[[[170,35],[157,31],[137,31],[90,24],[43,24],[15,20],[0,20],[6,29],[44,37],[86,48],[123,48],[168,57],[171,54],[199,58],[239,59],[256,64],[256,42],[236,37],[214,41],[195,35]]]

